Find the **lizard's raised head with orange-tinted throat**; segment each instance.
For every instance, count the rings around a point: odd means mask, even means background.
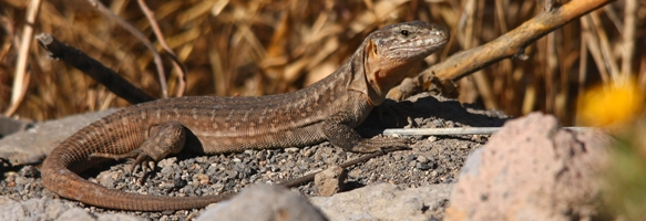
[[[449,41],[449,31],[423,21],[384,27],[372,32],[363,42],[366,80],[372,87],[368,95],[379,105],[386,94],[398,85],[410,69],[424,57],[442,49]]]

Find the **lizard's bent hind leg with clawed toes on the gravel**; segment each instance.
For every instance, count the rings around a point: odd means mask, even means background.
[[[131,172],[137,165],[141,165],[142,171],[145,173],[148,162],[157,162],[171,154],[182,151],[184,143],[186,141],[186,131],[184,126],[178,122],[166,122],[148,128],[148,137],[136,149],[123,154],[104,154],[95,152],[90,157],[103,157],[112,159],[134,158],[135,161],[131,167]]]

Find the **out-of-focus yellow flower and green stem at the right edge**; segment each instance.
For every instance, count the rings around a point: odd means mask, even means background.
[[[609,164],[603,165],[601,198],[616,220],[646,220],[646,95],[634,81],[587,90],[580,99],[578,120],[613,136]]]

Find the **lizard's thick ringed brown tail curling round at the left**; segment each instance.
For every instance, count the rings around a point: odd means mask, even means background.
[[[232,194],[204,197],[165,197],[123,192],[88,181],[81,172],[105,159],[89,157],[92,152],[127,152],[143,143],[143,133],[129,133],[131,136],[102,136],[105,120],[96,122],[59,145],[41,167],[42,182],[50,191],[68,199],[86,204],[134,211],[166,211],[204,208],[209,203],[230,198]],[[132,130],[131,130],[132,131]],[[117,131],[115,131],[117,133]],[[120,133],[117,133],[120,134]],[[120,145],[115,145],[120,144]],[[103,147],[121,147],[106,150]]]

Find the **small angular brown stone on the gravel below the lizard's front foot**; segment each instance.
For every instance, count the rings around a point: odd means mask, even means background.
[[[320,197],[330,197],[345,189],[348,170],[332,166],[314,177],[314,186]]]

